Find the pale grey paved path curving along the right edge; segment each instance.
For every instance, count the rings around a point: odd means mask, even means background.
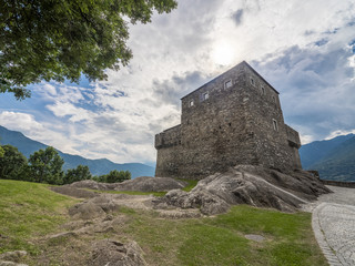
[[[355,265],[355,188],[328,186],[334,193],[304,206],[331,266]]]

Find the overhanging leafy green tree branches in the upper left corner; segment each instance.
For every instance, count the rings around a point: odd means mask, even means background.
[[[128,22],[148,23],[175,0],[1,0],[0,92],[30,96],[28,84],[64,79],[103,80],[104,70],[126,65]]]

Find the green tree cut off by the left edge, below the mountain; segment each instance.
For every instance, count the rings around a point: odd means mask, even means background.
[[[19,150],[11,145],[1,146],[3,156],[0,157],[0,178],[26,180],[23,170],[27,166],[27,158]]]

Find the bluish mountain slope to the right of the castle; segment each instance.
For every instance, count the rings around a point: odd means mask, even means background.
[[[304,168],[317,170],[321,178],[355,182],[355,135],[313,142],[300,149]]]

